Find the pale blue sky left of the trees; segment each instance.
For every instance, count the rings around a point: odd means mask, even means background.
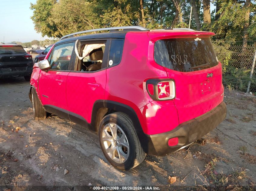
[[[0,0],[0,42],[25,43],[46,38],[34,29],[30,2],[36,0]]]

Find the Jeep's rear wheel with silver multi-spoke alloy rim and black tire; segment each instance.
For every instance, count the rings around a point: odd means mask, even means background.
[[[105,157],[119,170],[130,170],[146,157],[132,121],[125,113],[111,113],[101,120],[99,140]]]

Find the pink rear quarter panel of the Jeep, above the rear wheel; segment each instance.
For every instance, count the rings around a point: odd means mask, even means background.
[[[116,66],[107,68],[104,96],[105,100],[130,106],[137,114],[141,127],[146,134],[170,131],[178,124],[177,110],[172,101],[168,103],[168,118],[165,118],[165,121],[161,124],[164,128],[160,128],[159,124],[156,123],[160,113],[154,111],[155,103],[149,104],[153,100],[147,93],[146,81],[151,78],[168,78],[162,66],[151,64],[152,55],[149,56],[148,53],[149,49],[152,48],[154,46],[152,46],[147,33],[127,33],[121,62]],[[145,105],[147,107],[144,107]],[[158,116],[155,117],[155,115]],[[170,118],[169,115],[172,115],[173,118]]]

